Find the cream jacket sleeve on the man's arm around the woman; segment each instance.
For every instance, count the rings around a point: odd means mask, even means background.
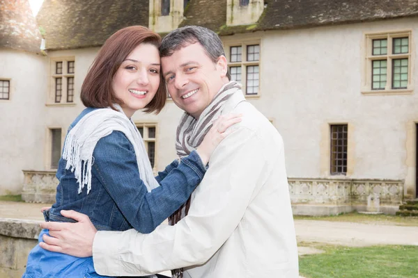
[[[100,275],[149,275],[205,263],[240,224],[255,188],[268,177],[267,164],[254,131],[233,132],[212,154],[188,215],[151,234],[98,231],[95,270]]]

